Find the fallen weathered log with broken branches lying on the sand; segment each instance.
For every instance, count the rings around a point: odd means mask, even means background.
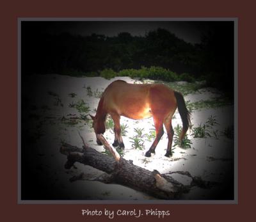
[[[79,136],[81,137],[80,134]],[[118,152],[109,145],[102,134],[97,135],[97,138],[99,138],[104,147],[111,152],[113,157],[97,152],[97,150],[87,145],[81,137],[84,148],[74,147],[67,143],[61,146],[61,154],[67,155],[68,159],[65,168],[70,169],[76,162],[89,165],[104,171],[100,177],[93,178],[93,180],[104,183],[121,184],[150,194],[156,198],[166,200],[179,198],[180,194],[188,192],[192,186],[204,188],[211,186],[211,184],[205,183],[200,178],[192,177],[188,172],[178,172],[192,178],[191,184],[184,186],[171,177],[171,174],[175,172],[161,174],[157,170],[149,171],[140,166],[136,166],[132,164],[132,161],[127,161],[120,157]],[[70,180],[74,181],[77,179],[86,179],[86,175],[82,173]]]

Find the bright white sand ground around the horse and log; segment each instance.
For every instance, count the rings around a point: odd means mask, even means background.
[[[148,200],[152,197],[147,194],[134,191],[128,187],[119,186],[116,184],[102,184],[100,182],[93,181],[76,181],[69,182],[69,178],[73,175],[79,175],[81,172],[86,172],[88,178],[93,178],[95,175],[102,173],[99,170],[95,170],[90,166],[84,166],[83,164],[76,163],[75,168],[70,170],[65,170],[64,165],[67,161],[65,155],[60,154],[60,142],[61,140],[66,141],[72,145],[82,147],[82,141],[77,134],[77,129],[84,136],[86,141],[96,150],[102,152],[104,148],[98,146],[95,142],[95,134],[91,125],[84,125],[84,123],[79,123],[74,127],[65,125],[60,122],[60,119],[64,116],[68,118],[68,115],[77,115],[79,113],[75,108],[68,107],[68,104],[72,102],[77,102],[83,99],[88,106],[90,106],[90,113],[93,113],[93,109],[97,108],[99,98],[90,97],[87,95],[86,87],[90,86],[92,91],[104,91],[106,86],[116,79],[122,79],[128,83],[134,83],[134,80],[129,77],[116,77],[111,80],[106,80],[102,77],[69,77],[63,75],[35,75],[31,77],[31,81],[35,83],[35,88],[31,89],[31,104],[35,104],[37,107],[47,105],[51,110],[46,111],[36,111],[41,112],[43,116],[52,116],[53,121],[56,124],[49,124],[45,122],[43,129],[47,134],[42,136],[38,143],[36,144],[35,150],[35,163],[42,163],[43,167],[49,168],[49,179],[52,180],[53,186],[58,187],[61,191],[68,191],[68,196],[71,199],[104,199],[104,200]],[[39,84],[40,83],[40,84]],[[140,81],[136,81],[140,83]],[[84,88],[85,87],[85,88]],[[61,106],[54,106],[56,99],[54,96],[49,95],[49,91],[57,93],[60,97]],[[36,94],[37,93],[37,94]],[[76,93],[76,97],[72,98],[68,96],[69,93]],[[207,88],[204,90],[199,90],[195,94],[189,94],[185,97],[185,100],[190,100],[190,102],[195,102],[199,100],[208,100],[214,97],[218,97],[220,92],[215,89]],[[42,101],[47,101],[49,104],[42,104]],[[220,125],[216,126],[216,129],[223,131],[228,125],[232,125],[233,117],[227,115],[230,110],[232,111],[232,106],[220,107],[217,109],[202,109],[201,111],[195,111],[192,113],[191,121],[197,126],[200,123],[205,123],[209,116],[216,116],[216,120]],[[182,124],[180,120],[179,113],[176,113],[176,118],[173,119],[173,127],[178,123]],[[58,121],[56,121],[58,120]],[[160,173],[168,173],[170,171],[189,171],[193,176],[200,176],[204,180],[211,181],[221,181],[225,177],[225,172],[221,169],[225,168],[228,161],[221,161],[213,159],[232,159],[232,151],[234,149],[232,141],[221,136],[220,139],[207,138],[207,139],[197,139],[189,134],[189,138],[193,141],[192,148],[186,150],[176,147],[173,149],[173,157],[165,157],[166,147],[168,139],[166,133],[164,133],[163,138],[159,142],[156,148],[156,154],[152,154],[152,157],[145,157],[145,152],[148,150],[152,141],[147,141],[144,138],[145,148],[143,150],[135,150],[132,148],[131,139],[136,133],[135,128],[143,128],[143,133],[149,133],[150,129],[154,129],[154,122],[152,118],[145,120],[131,120],[125,117],[121,117],[121,123],[127,124],[127,136],[123,136],[125,144],[125,159],[131,159],[134,164],[146,168],[147,170],[157,170]],[[165,129],[164,129],[165,132]],[[109,143],[113,143],[114,134],[110,130],[106,131],[104,136],[108,139]],[[44,154],[43,157],[38,157],[36,154]],[[191,182],[191,178],[187,176],[182,176],[179,174],[173,174],[173,178],[188,185]],[[72,190],[72,193],[70,191]],[[207,193],[209,191],[202,191],[199,188],[193,188],[189,194],[184,195],[184,198],[194,198],[198,197],[198,193]],[[90,193],[90,196],[88,196]],[[200,196],[199,196],[200,198]]]

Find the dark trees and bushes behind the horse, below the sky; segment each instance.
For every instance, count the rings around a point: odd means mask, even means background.
[[[95,76],[105,75],[103,70],[112,70],[111,77],[121,70],[162,67],[186,81],[205,79],[209,86],[232,96],[234,22],[207,22],[207,25],[209,31],[202,35],[201,44],[193,45],[160,28],[145,36],[54,35],[45,31],[46,22],[22,22],[22,74]],[[154,74],[149,77],[161,79]],[[165,75],[163,78],[170,79]]]

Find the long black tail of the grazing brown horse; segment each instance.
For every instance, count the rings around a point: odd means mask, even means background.
[[[189,113],[185,104],[184,97],[181,95],[181,93],[174,91],[174,96],[177,100],[177,107],[178,107],[180,117],[182,120],[182,125],[183,125],[183,129],[180,132],[180,137],[179,137],[180,141],[182,141],[182,139],[184,139],[184,136],[186,135],[186,132],[188,131],[189,126],[191,125],[191,121],[190,121],[191,113]]]

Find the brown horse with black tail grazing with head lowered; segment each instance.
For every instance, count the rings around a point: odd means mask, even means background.
[[[172,155],[172,116],[178,107],[183,129],[180,133],[180,141],[184,139],[190,124],[190,113],[186,108],[184,97],[177,91],[173,91],[164,84],[129,84],[125,81],[115,81],[106,88],[100,99],[97,113],[92,116],[93,129],[97,134],[104,134],[106,131],[106,116],[109,114],[115,123],[115,141],[113,147],[119,145],[124,148],[121,136],[120,116],[133,120],[140,120],[153,116],[156,127],[156,138],[146,152],[145,156],[150,157],[155,153],[157,143],[164,134],[163,125],[168,135],[168,147],[166,156]],[[102,145],[97,138],[98,145]]]

